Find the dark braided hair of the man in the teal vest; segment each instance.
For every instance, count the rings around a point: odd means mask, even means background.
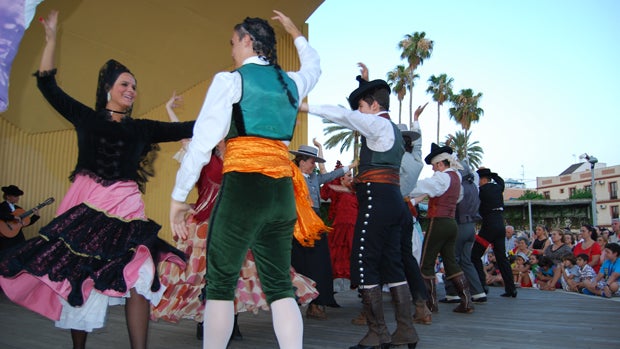
[[[249,35],[252,39],[252,49],[254,52],[276,68],[276,72],[278,73],[278,81],[280,81],[282,88],[286,91],[289,103],[297,109],[297,98],[293,96],[293,93],[288,88],[288,84],[284,81],[284,77],[282,76],[282,68],[278,65],[276,34],[271,25],[269,25],[269,23],[262,18],[246,17],[242,23],[235,26],[235,31],[237,32],[237,35],[239,35],[239,39],[243,39],[243,37]]]

